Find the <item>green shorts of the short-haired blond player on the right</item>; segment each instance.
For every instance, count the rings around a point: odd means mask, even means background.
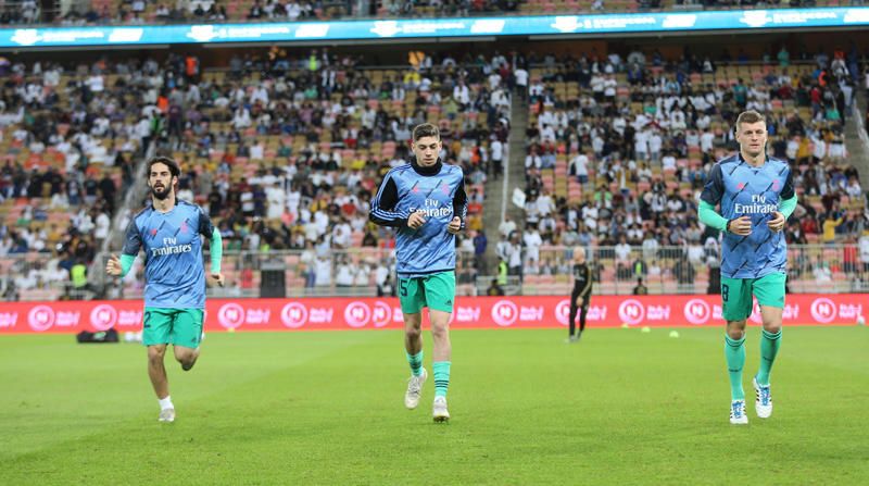
[[[783,272],[770,273],[760,278],[721,277],[721,314],[726,321],[744,321],[752,315],[752,295],[765,307],[784,308]]]

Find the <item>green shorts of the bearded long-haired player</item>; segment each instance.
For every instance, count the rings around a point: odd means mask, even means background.
[[[144,308],[142,344],[198,348],[202,338],[202,309]]]

